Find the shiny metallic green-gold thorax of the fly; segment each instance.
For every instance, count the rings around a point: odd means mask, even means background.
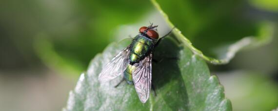
[[[154,48],[154,40],[142,35],[135,37],[131,44],[130,63],[134,64],[139,62],[142,58],[147,56]]]

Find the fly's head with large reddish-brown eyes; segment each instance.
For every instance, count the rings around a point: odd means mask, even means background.
[[[151,23],[151,25],[148,27],[146,26],[141,27],[139,29],[139,32],[146,37],[157,40],[159,38],[159,34],[157,33],[157,27],[158,25],[153,25]]]

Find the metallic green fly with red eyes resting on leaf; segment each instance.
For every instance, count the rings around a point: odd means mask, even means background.
[[[133,38],[131,44],[119,52],[102,69],[99,81],[106,82],[124,74],[124,79],[129,84],[134,84],[140,101],[145,103],[149,98],[152,86],[153,50],[163,38],[159,39],[157,27],[153,24],[141,27],[139,35]]]

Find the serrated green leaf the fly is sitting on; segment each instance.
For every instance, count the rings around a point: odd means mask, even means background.
[[[124,49],[130,40],[110,44],[97,55],[84,74],[81,74],[64,111],[231,111],[231,102],[224,96],[218,78],[210,75],[205,61],[174,37],[166,37],[154,52],[152,83],[149,100],[142,104],[133,85],[123,82],[114,86],[121,77],[100,84],[98,75],[103,65]],[[166,59],[165,57],[177,57]]]

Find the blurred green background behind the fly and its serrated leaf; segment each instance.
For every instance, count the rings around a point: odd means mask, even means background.
[[[209,67],[234,111],[278,107],[278,0],[158,3],[205,55],[218,57],[219,47],[243,37],[264,39],[259,47],[239,52],[229,64]],[[149,0],[1,1],[0,111],[60,111],[96,54],[157,19],[161,16]],[[265,28],[266,22],[274,29]],[[160,35],[169,29],[160,28]]]

